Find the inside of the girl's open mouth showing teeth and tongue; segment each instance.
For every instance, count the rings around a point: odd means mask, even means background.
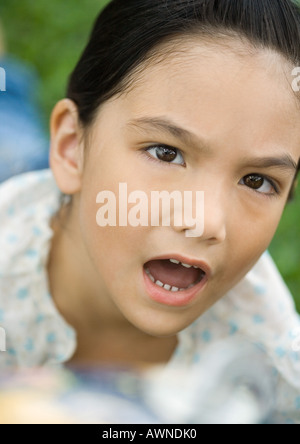
[[[172,258],[149,261],[144,269],[157,287],[173,293],[189,290],[207,277],[207,273],[197,265]]]

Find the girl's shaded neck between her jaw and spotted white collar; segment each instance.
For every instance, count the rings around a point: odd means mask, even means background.
[[[111,301],[95,270],[73,208],[62,209],[51,223],[48,262],[52,299],[77,333],[76,364],[162,363],[172,356],[177,338],[155,338],[135,328]]]

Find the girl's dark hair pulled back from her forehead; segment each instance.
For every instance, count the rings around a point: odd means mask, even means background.
[[[77,104],[82,124],[126,89],[130,74],[158,45],[199,32],[234,33],[300,65],[300,9],[292,0],[112,0],[97,18],[68,85],[67,97]]]

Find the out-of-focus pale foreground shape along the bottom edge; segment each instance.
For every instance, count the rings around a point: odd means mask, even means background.
[[[0,423],[276,423],[272,375],[262,352],[232,340],[191,367],[16,372],[0,377]]]

